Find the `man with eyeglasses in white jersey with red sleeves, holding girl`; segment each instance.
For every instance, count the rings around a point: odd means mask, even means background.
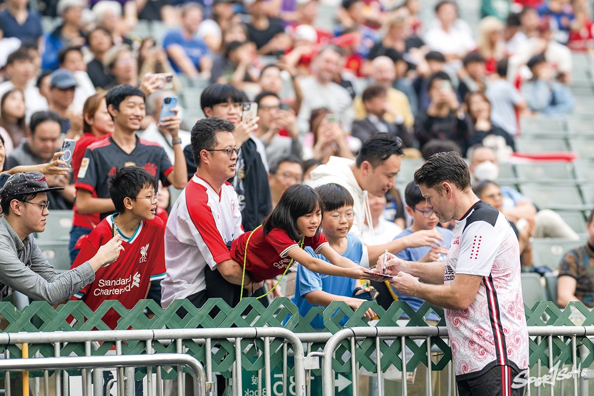
[[[239,197],[227,182],[241,155],[234,130],[233,123],[216,117],[201,119],[192,128],[197,170],[173,205],[165,228],[164,308],[177,299],[188,299],[197,307],[215,297],[229,306],[239,302],[242,267],[229,253],[231,242],[244,233]],[[248,274],[244,283],[252,290]]]

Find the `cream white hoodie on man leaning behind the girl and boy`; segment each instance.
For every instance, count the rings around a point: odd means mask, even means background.
[[[311,180],[307,184],[316,188],[327,183],[336,183],[346,188],[353,196],[353,210],[355,210],[353,227],[350,232],[362,238],[368,203],[365,202],[366,192],[361,189],[350,168],[354,163],[355,161],[346,158],[330,157],[327,164],[320,165],[311,171]]]

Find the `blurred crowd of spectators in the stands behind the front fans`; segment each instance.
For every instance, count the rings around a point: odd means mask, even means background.
[[[273,205],[330,157],[354,159],[362,142],[387,132],[402,139],[405,156],[394,187],[369,200],[367,227],[375,232],[365,242],[392,240],[409,226],[404,187],[413,171],[432,153],[456,150],[479,197],[513,224],[526,268],[557,267],[588,232],[594,243],[586,220],[594,205],[587,0],[5,0],[0,7],[4,170],[48,163],[64,138],[113,132],[105,102],[83,104],[118,84],[147,94],[138,135],[173,159],[171,138],[157,127],[163,98],[179,99],[187,147],[187,131],[204,117],[201,93],[223,83],[242,91],[241,102],[258,104],[257,126],[245,133],[257,142]],[[163,73],[172,74],[170,87],[156,83]],[[61,123],[59,134],[30,125],[45,110]],[[65,187],[50,209],[72,210],[74,178],[48,177]],[[164,217],[179,190],[166,192],[159,189]],[[535,242],[551,237],[563,246],[554,260],[545,249],[551,243]]]

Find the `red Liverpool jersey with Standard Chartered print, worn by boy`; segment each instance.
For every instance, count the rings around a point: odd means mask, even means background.
[[[112,238],[112,223],[113,215],[104,218],[91,231],[72,268],[88,261],[100,246]],[[142,221],[130,238],[120,233],[124,250],[119,253],[118,259],[100,268],[95,280],[71,300],[81,299],[93,311],[105,300],[118,300],[127,309],[134,307],[138,300],[146,297],[150,281],[165,278],[164,233],[165,226],[159,217]],[[119,314],[113,309],[103,316],[103,322],[112,329],[115,329],[118,319]],[[128,327],[129,324],[125,324],[123,328]]]

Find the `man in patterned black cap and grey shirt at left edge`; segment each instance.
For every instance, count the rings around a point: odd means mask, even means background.
[[[49,215],[48,187],[40,172],[12,175],[0,190],[0,300],[15,290],[33,300],[58,304],[91,283],[95,273],[115,261],[123,249],[119,237],[101,246],[80,267],[58,274],[41,254],[31,233],[45,230]]]

